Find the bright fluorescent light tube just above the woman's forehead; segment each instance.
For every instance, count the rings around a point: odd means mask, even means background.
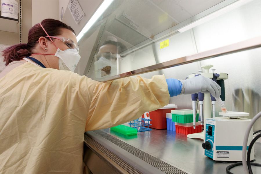
[[[77,41],[79,41],[81,39],[81,37],[83,37],[84,33],[86,33],[91,26],[93,26],[93,24],[97,21],[97,19],[102,15],[102,13],[108,8],[108,6],[113,2],[113,0],[104,0],[101,4],[101,6],[99,6],[99,8],[97,9],[97,11],[93,14],[93,16],[90,18],[90,20],[86,23],[86,25],[84,26],[84,28],[81,30],[81,32],[79,33],[79,35],[76,37]]]

